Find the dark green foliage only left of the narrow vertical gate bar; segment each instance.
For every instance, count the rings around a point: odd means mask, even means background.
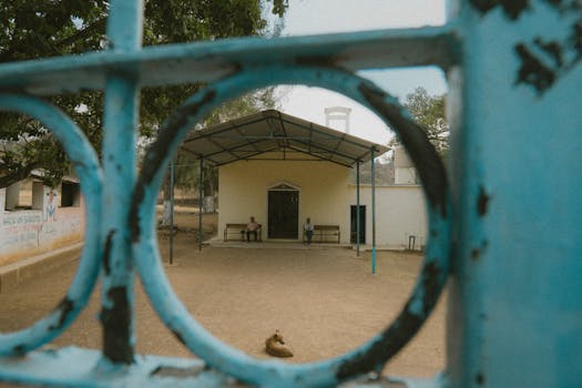
[[[0,62],[48,58],[100,50],[105,33],[108,1],[0,1]],[[50,99],[61,106],[99,149],[101,93],[83,92]],[[76,106],[91,108],[79,112]],[[64,153],[35,120],[12,113],[0,114],[0,187],[45,171],[53,186],[69,171]]]

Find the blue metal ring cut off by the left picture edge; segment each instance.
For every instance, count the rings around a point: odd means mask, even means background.
[[[65,297],[49,315],[28,328],[0,334],[0,355],[13,356],[51,341],[86,305],[99,275],[103,180],[95,151],[75,123],[61,110],[33,96],[3,93],[0,93],[0,110],[28,114],[52,132],[72,162],[85,197],[85,243],[76,274]]]

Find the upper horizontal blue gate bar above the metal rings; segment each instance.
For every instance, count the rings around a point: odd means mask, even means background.
[[[0,64],[0,90],[59,94],[102,90],[108,74],[131,74],[139,86],[213,82],[243,67],[267,63],[323,65],[347,71],[456,63],[459,44],[450,25],[278,39],[242,38],[106,50]]]

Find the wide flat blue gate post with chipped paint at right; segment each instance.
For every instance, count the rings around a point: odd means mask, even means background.
[[[452,388],[581,386],[574,3],[461,3],[462,73],[449,72],[462,108],[449,163],[458,242],[448,304]]]

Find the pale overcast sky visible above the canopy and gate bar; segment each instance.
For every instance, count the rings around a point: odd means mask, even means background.
[[[283,35],[443,23],[445,0],[289,0]],[[445,75],[437,68],[367,72],[366,76],[401,101],[417,86],[425,88],[430,94],[447,92]],[[384,122],[374,113],[335,92],[318,88],[293,86],[285,90],[280,103],[284,112],[323,125],[325,125],[325,108],[338,105],[350,108],[351,134],[382,144],[391,137]]]

